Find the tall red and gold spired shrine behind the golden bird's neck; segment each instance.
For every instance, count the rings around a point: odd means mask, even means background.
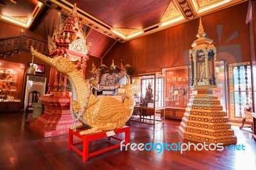
[[[74,64],[75,69],[81,70],[85,78],[86,61],[89,59],[90,43],[86,43],[83,36],[81,22],[77,15],[76,4],[70,15],[65,20],[59,33],[48,37],[49,54],[52,59],[61,56]],[[51,67],[49,79],[49,96],[40,97],[44,104],[44,114],[31,123],[44,137],[68,134],[68,129],[73,125],[70,111],[71,98],[66,91],[67,75],[57,72]],[[84,96],[85,97],[85,96]]]

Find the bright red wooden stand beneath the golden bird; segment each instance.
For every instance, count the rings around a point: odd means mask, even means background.
[[[72,129],[69,130],[68,150],[76,151],[76,153],[78,153],[79,155],[81,155],[83,157],[83,162],[86,162],[88,160],[88,158],[93,157],[95,155],[99,155],[100,153],[104,153],[106,151],[113,150],[118,147],[120,148],[120,143],[119,143],[119,144],[115,144],[113,146],[109,146],[108,148],[104,148],[102,150],[94,151],[93,153],[89,153],[89,150],[88,150],[89,143],[92,141],[97,141],[99,139],[104,139],[107,137],[107,134],[106,134],[106,132],[100,132],[97,134],[80,135],[79,132],[81,132],[82,130],[86,130],[86,128],[77,129],[76,132],[74,132]],[[117,128],[113,131],[115,132],[115,134],[121,134],[121,133],[125,132],[125,143],[124,144],[127,144],[130,142],[130,127],[124,126],[122,128]],[[78,143],[73,143],[74,135],[76,137],[78,137],[79,139],[82,139],[82,141],[78,142]],[[108,137],[108,139],[111,139],[111,138],[116,139],[118,141],[124,141],[124,139],[120,139],[115,136]],[[83,151],[81,151],[75,147],[76,145],[79,145],[79,144],[83,144]]]

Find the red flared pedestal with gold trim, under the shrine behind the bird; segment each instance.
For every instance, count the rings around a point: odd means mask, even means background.
[[[70,112],[70,96],[68,91],[52,91],[51,96],[40,97],[44,104],[44,114],[31,122],[34,128],[44,137],[68,134],[68,129],[74,124]]]

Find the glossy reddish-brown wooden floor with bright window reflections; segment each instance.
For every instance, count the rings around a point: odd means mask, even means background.
[[[182,143],[180,121],[166,120],[156,129],[131,122],[131,143]],[[68,151],[68,135],[44,138],[24,121],[23,112],[0,113],[0,169],[256,169],[256,143],[252,134],[232,126],[237,144],[245,151],[120,151],[120,148],[89,158]],[[111,145],[113,140],[90,144],[90,151]]]

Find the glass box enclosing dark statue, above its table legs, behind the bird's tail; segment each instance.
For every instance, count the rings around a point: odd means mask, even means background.
[[[136,105],[143,107],[164,107],[164,76],[159,73],[132,75],[131,81],[140,78],[140,95]]]

